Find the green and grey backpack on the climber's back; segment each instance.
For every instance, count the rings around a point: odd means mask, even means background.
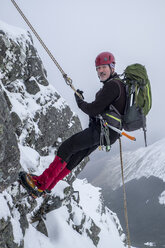
[[[123,128],[126,131],[143,128],[146,144],[146,115],[152,106],[151,86],[147,71],[141,64],[132,64],[126,67],[123,76],[122,81],[126,85],[127,94],[122,118]]]

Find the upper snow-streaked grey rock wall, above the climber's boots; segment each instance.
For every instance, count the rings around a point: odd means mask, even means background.
[[[63,140],[81,130],[78,117],[49,85],[31,35],[17,33],[14,36],[6,31],[6,26],[0,30],[1,189],[16,180],[18,144],[46,156],[52,147],[56,150]]]

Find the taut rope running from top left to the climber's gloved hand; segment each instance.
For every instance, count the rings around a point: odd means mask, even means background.
[[[71,87],[71,89],[82,99],[82,95],[79,94],[76,89],[74,88],[73,84],[72,84],[72,79],[69,78],[67,76],[67,74],[64,72],[64,70],[62,69],[62,67],[59,65],[59,63],[57,62],[57,60],[55,59],[55,57],[53,56],[53,54],[51,53],[51,51],[48,49],[48,47],[45,45],[45,43],[43,42],[43,40],[41,39],[41,37],[39,36],[39,34],[36,32],[36,30],[34,29],[34,27],[32,26],[32,24],[29,22],[29,20],[26,18],[26,16],[24,15],[24,13],[22,12],[22,10],[20,9],[20,7],[17,5],[17,3],[14,0],[11,0],[11,2],[13,3],[13,5],[15,6],[15,8],[17,9],[17,11],[19,12],[19,14],[22,16],[22,18],[24,19],[24,21],[26,22],[26,24],[29,26],[29,28],[31,29],[31,31],[33,32],[33,34],[36,36],[36,38],[38,39],[38,41],[40,42],[40,44],[42,45],[42,47],[45,49],[45,51],[47,52],[47,54],[49,55],[49,57],[52,59],[52,61],[54,62],[54,64],[56,65],[56,67],[58,68],[58,70],[61,72],[65,82],[67,85],[69,85]]]

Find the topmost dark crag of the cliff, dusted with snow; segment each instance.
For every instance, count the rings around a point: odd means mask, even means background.
[[[28,36],[32,41],[30,33]],[[4,85],[7,86],[9,82],[18,78],[26,81],[31,76],[36,78],[39,84],[48,85],[46,70],[31,41],[22,36],[22,40],[18,39],[16,42],[10,39],[5,32],[0,33],[0,69],[5,75],[2,79]],[[6,63],[4,63],[4,58]],[[14,63],[13,67],[11,67],[12,63]]]

